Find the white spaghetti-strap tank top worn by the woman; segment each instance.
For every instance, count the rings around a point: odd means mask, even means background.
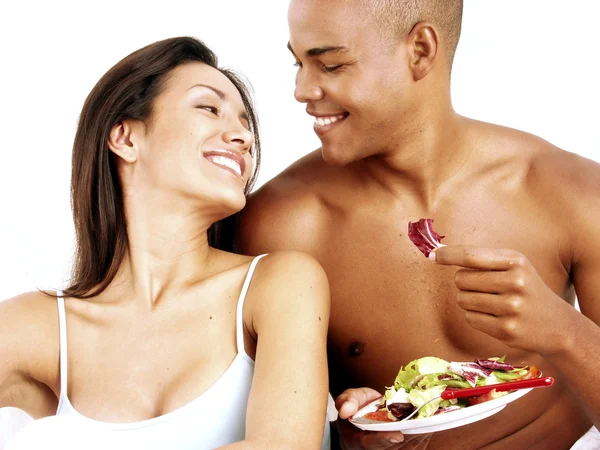
[[[25,448],[202,450],[244,440],[246,407],[254,374],[254,361],[244,349],[242,312],[256,264],[254,258],[237,304],[237,355],[225,373],[203,394],[186,405],[153,419],[107,423],[79,413],[67,396],[67,326],[62,293],[57,296],[60,330],[60,397],[56,416],[25,426],[7,450]],[[322,449],[330,448],[326,423]]]

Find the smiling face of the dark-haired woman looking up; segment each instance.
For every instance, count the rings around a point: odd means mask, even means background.
[[[175,68],[138,130],[134,180],[169,194],[155,198],[192,201],[222,217],[244,207],[254,137],[239,92],[221,72],[202,63]]]

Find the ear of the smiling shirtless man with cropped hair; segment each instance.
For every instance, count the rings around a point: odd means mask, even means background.
[[[439,56],[439,34],[428,22],[419,22],[409,36],[410,69],[413,79],[419,81],[427,76],[435,66]]]

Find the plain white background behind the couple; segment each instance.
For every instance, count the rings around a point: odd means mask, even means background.
[[[263,138],[258,185],[319,145],[293,98],[286,0],[2,4],[0,299],[65,280],[77,117],[101,75],[137,48],[196,36],[248,77]],[[465,0],[455,108],[600,161],[598,17],[596,0]]]

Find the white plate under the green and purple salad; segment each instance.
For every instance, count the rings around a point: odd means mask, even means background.
[[[463,425],[485,419],[500,412],[508,403],[523,397],[529,391],[531,389],[520,389],[502,397],[479,403],[478,405],[467,406],[456,411],[425,417],[423,419],[409,419],[405,422],[380,422],[378,420],[364,419],[362,416],[377,410],[379,400],[375,400],[354,414],[350,422],[361,430],[366,431],[401,431],[403,434],[433,433],[434,431],[462,427]]]

